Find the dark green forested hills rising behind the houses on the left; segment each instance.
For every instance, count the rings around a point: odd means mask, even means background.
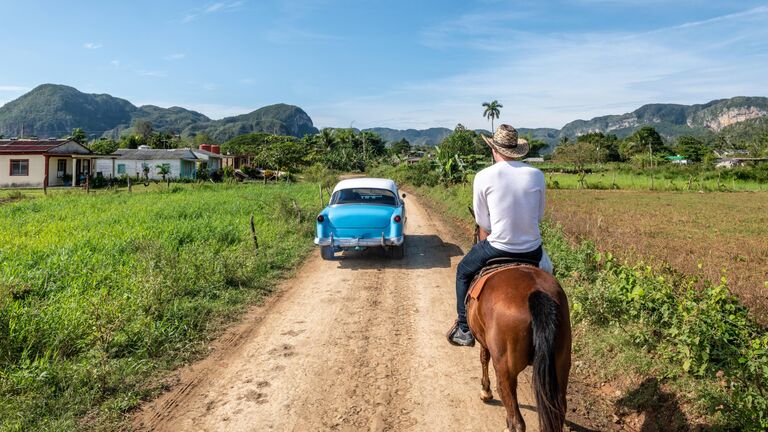
[[[6,137],[61,137],[82,128],[89,136],[117,137],[138,120],[153,129],[190,136],[206,132],[219,142],[250,132],[297,137],[317,129],[304,110],[293,105],[270,105],[235,117],[211,120],[180,107],[137,107],[107,94],[88,94],[64,85],[43,84],[0,107],[0,135]]]

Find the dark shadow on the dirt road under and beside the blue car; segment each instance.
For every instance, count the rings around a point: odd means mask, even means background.
[[[405,238],[405,257],[396,260],[387,257],[383,248],[346,251],[337,254],[339,268],[362,270],[372,268],[433,269],[450,268],[451,258],[464,255],[453,243],[444,242],[434,234],[413,234]]]

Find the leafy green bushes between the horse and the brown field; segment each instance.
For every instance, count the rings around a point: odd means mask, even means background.
[[[643,351],[702,379],[711,414],[729,428],[768,428],[768,335],[728,290],[671,270],[617,263],[589,242],[571,247],[557,230],[545,231],[556,275],[567,281],[575,322],[620,327]],[[675,366],[672,366],[675,367]],[[711,383],[721,387],[713,391]]]

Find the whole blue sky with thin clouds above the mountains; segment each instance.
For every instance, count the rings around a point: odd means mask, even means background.
[[[561,127],[768,95],[768,1],[0,0],[0,104],[42,83],[212,118]]]

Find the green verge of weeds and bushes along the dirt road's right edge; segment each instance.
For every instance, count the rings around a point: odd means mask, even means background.
[[[469,186],[416,192],[471,224]],[[620,260],[552,222],[543,235],[572,303],[575,373],[616,386],[601,396],[619,421],[643,430],[768,428],[768,333],[726,279]]]

